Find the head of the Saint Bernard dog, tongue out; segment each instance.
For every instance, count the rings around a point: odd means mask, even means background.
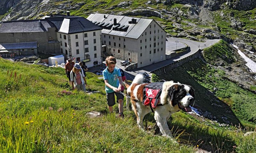
[[[175,84],[168,89],[168,101],[172,106],[178,105],[179,109],[191,112],[191,105],[194,105],[194,89],[185,84]]]

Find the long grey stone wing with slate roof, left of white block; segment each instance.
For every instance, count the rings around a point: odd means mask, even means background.
[[[45,19],[5,21],[0,25],[0,44],[9,46],[5,48],[16,55],[36,54],[35,48],[28,48],[29,45],[26,45],[32,42],[36,42],[38,53],[60,53],[60,43],[55,31],[55,25]],[[23,46],[15,47],[20,43]]]

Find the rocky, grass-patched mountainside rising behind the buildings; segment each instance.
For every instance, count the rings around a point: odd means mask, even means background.
[[[154,17],[169,36],[191,40],[222,38],[255,52],[255,0],[64,1],[2,0],[0,20],[42,18],[50,12],[86,17],[90,13]],[[6,13],[7,12],[7,13]]]

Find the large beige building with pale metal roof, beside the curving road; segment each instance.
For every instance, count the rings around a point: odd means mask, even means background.
[[[103,52],[137,63],[137,68],[165,60],[166,32],[153,19],[109,14],[88,18],[102,29]]]

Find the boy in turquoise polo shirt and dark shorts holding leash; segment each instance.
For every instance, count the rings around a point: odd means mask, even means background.
[[[106,58],[107,68],[103,70],[103,80],[105,82],[105,91],[107,96],[107,102],[109,106],[109,112],[113,112],[113,105],[115,105],[115,95],[118,100],[119,117],[124,118],[123,114],[123,99],[124,96],[120,94],[122,86],[122,77],[120,70],[115,67],[116,59],[113,56]]]

